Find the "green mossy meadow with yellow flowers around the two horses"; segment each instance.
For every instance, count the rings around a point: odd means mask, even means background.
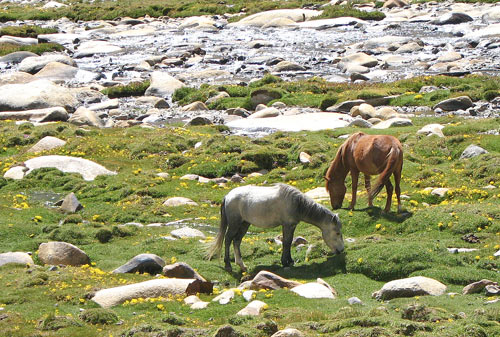
[[[191,219],[187,225],[199,226],[214,236],[220,202],[239,184],[220,187],[180,180],[180,176],[197,173],[218,177],[267,169],[268,174],[249,178],[245,183],[284,182],[306,191],[324,185],[325,170],[343,142],[337,137],[358,130],[279,132],[248,139],[228,135],[224,128],[207,126],[149,130],[82,129],[66,123],[40,127],[0,123],[0,171],[33,157],[26,150],[51,135],[68,143],[43,154],[83,157],[118,172],[89,182],[78,174],[63,174],[55,169],[37,170],[20,181],[0,179],[0,252],[31,251],[39,263],[39,244],[61,240],[79,246],[93,262],[91,266],[65,267],[55,272],[44,266],[0,267],[0,307],[4,308],[0,315],[6,315],[1,316],[0,329],[5,336],[146,336],[175,335],[181,331],[185,336],[210,335],[228,323],[243,335],[262,336],[266,335],[259,329],[263,320],[272,320],[279,328],[296,327],[310,336],[498,335],[498,304],[484,304],[488,298],[482,294],[459,295],[471,281],[498,280],[498,259],[493,253],[500,244],[500,147],[498,136],[485,133],[499,129],[498,119],[415,118],[413,127],[385,130],[384,133],[397,136],[405,150],[405,212],[381,213],[383,193],[375,202],[377,207],[367,208],[366,192],[360,188],[356,209],[339,210],[344,237],[355,239],[346,244],[344,257],[327,254],[317,228],[300,224],[296,235],[304,236],[318,248],[308,256],[305,250],[294,248],[296,264],[284,269],[279,263],[280,246],[266,241],[280,234],[279,229],[250,228],[242,243],[250,274],[266,269],[300,281],[322,277],[337,289],[338,299],[308,300],[286,290],[262,292],[257,299],[265,301],[269,309],[262,318],[248,320],[234,318],[245,306],[240,296],[228,305],[211,304],[200,311],[190,310],[181,298],[138,299],[112,308],[122,322],[118,325],[99,323],[115,321],[109,312],[101,317],[96,311],[92,319],[82,319],[80,308],[97,307],[89,300],[97,289],[151,279],[148,274],[109,273],[137,254],[154,253],[168,263],[186,262],[206,278],[217,280],[220,290],[234,287],[242,277],[236,266],[230,274],[224,271],[221,260],[204,260],[203,244],[198,240],[164,240],[162,237],[169,234],[171,227],[118,227],[119,224]],[[445,138],[416,135],[418,128],[428,123],[444,124]],[[200,141],[202,146],[195,148]],[[472,143],[489,154],[460,160],[460,153]],[[300,164],[301,151],[312,155],[312,164]],[[168,172],[171,178],[160,178],[158,172]],[[483,188],[489,184],[497,188]],[[425,192],[426,187],[448,187],[450,193],[439,199]],[[78,214],[63,214],[45,205],[48,196],[62,197],[69,192],[75,192],[85,207]],[[199,206],[163,206],[163,201],[172,196],[191,198]],[[344,206],[348,199],[349,195]],[[328,202],[325,205],[329,207]],[[480,243],[462,240],[464,234],[470,233]],[[449,247],[478,251],[453,255],[447,251]],[[371,293],[385,281],[415,275],[440,280],[448,285],[449,292],[458,295],[389,302],[371,298]],[[350,307],[347,299],[352,296],[359,297],[365,305]],[[201,297],[210,300],[212,296]],[[411,315],[410,305],[419,308]],[[183,324],[170,324],[173,315]]]

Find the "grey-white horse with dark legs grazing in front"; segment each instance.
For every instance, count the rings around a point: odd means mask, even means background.
[[[233,243],[235,262],[242,271],[247,268],[241,259],[240,244],[250,224],[261,228],[283,226],[283,266],[293,265],[290,248],[295,227],[304,221],[321,229],[323,240],[335,253],[344,250],[342,224],[337,214],[314,202],[298,189],[285,185],[241,186],[231,190],[222,201],[219,233],[208,248],[207,258],[218,255],[226,242],[225,269],[231,271],[229,249]]]

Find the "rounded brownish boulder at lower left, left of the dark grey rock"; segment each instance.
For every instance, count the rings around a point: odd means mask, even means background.
[[[80,248],[67,242],[52,241],[38,247],[38,258],[44,264],[81,266],[90,263],[88,255]]]

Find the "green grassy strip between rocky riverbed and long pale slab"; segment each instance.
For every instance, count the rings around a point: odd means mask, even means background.
[[[436,86],[440,89],[428,94],[418,94],[423,86]],[[433,106],[442,100],[469,96],[473,101],[492,100],[500,95],[500,83],[496,77],[471,75],[466,77],[421,76],[393,83],[346,84],[330,83],[319,77],[308,80],[287,82],[279,77],[266,75],[248,87],[239,85],[202,85],[200,88],[178,89],[173,100],[180,105],[195,101],[206,101],[208,98],[225,91],[230,97],[209,104],[211,109],[228,109],[242,107],[255,108],[250,101],[252,91],[258,89],[275,90],[281,98],[272,100],[271,105],[281,101],[290,106],[327,107],[353,99],[373,99],[384,96],[397,96],[391,99],[394,106]]]

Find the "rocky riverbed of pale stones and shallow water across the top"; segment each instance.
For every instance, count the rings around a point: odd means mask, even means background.
[[[369,5],[363,9],[374,10]],[[209,115],[220,123],[235,117],[229,118],[225,111],[183,111],[172,104],[173,91],[205,83],[247,84],[268,72],[285,80],[320,76],[331,82],[391,82],[435,74],[498,75],[498,5],[429,2],[382,11],[386,18],[378,22],[311,20],[321,13],[318,8],[260,13],[236,23],[229,23],[229,16],[3,23],[0,27],[55,27],[59,33],[40,35],[38,40],[1,39],[17,44],[56,42],[66,51],[0,58],[0,85],[5,85],[0,110],[63,107],[70,117],[80,108],[78,116],[83,114],[85,119],[97,115],[100,121],[92,122],[97,126],[159,125],[196,115]],[[98,91],[151,78],[156,89],[148,89],[146,94],[164,99],[160,103],[144,97],[110,101]],[[30,94],[25,95],[27,92]],[[48,98],[55,95],[59,100]],[[23,97],[14,99],[17,96]],[[478,110],[486,116],[499,112],[498,102],[476,102],[471,108],[473,115]],[[290,110],[282,107],[278,114],[319,112]],[[399,108],[398,112],[413,113],[415,109]],[[424,112],[433,113],[431,109]]]

